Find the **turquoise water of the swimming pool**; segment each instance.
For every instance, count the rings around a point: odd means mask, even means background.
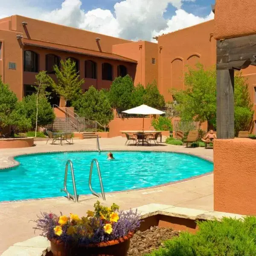
[[[20,165],[0,170],[0,201],[46,198],[65,195],[63,188],[67,160],[73,161],[79,195],[90,194],[88,178],[93,158],[99,161],[105,192],[139,189],[183,180],[212,172],[213,164],[198,157],[168,152],[61,152],[15,157]],[[68,175],[67,187],[73,194]],[[92,187],[100,192],[94,165]]]

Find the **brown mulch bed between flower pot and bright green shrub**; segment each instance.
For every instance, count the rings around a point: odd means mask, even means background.
[[[180,232],[165,227],[150,227],[145,231],[137,231],[131,238],[127,256],[143,256],[151,253],[159,247],[163,247],[163,241],[179,236]]]

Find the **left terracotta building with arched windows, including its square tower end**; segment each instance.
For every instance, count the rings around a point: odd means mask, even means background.
[[[71,58],[91,85],[109,88],[116,76],[129,74],[134,83],[157,81],[157,44],[128,41],[14,15],[0,20],[0,76],[18,99],[34,91],[35,75]],[[150,74],[150,75],[146,75]],[[58,105],[59,99],[52,104]],[[63,102],[62,102],[63,103]]]

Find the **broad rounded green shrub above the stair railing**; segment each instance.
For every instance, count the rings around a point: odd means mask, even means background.
[[[90,86],[89,90],[76,100],[73,105],[79,116],[96,120],[102,125],[108,125],[114,118],[105,90],[96,90],[93,86]]]

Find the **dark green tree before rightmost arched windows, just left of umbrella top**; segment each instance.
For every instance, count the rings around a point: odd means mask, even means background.
[[[131,94],[134,90],[134,82],[131,76],[116,77],[108,92],[112,108],[130,108]]]

